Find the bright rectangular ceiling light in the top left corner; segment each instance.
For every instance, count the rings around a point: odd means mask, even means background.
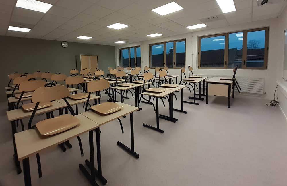
[[[16,7],[46,13],[53,5],[36,0],[18,0]]]

